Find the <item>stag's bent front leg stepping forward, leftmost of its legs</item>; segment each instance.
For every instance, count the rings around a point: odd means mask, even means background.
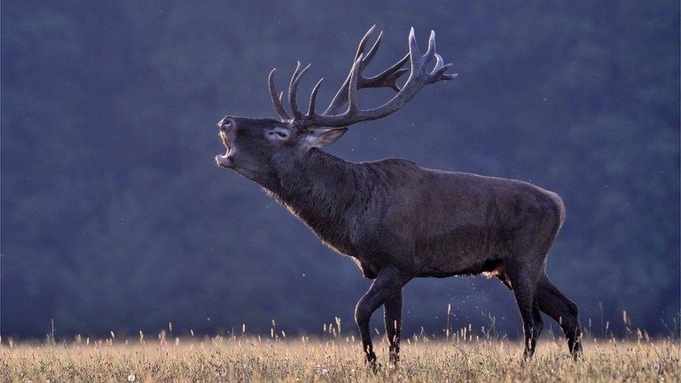
[[[359,335],[362,340],[362,348],[366,354],[366,360],[371,366],[376,366],[376,354],[373,352],[371,343],[371,331],[369,320],[373,312],[383,303],[400,293],[402,287],[411,278],[394,266],[383,266],[378,276],[369,287],[368,292],[359,299],[354,310],[354,320],[359,327]]]

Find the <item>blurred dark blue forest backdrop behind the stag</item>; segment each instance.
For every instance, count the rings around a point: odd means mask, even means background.
[[[372,24],[385,36],[368,74],[404,54],[414,26],[422,46],[437,32],[460,76],[329,150],[554,190],[568,214],[548,272],[587,329],[621,333],[623,310],[632,328],[673,329],[678,1],[6,0],[0,14],[3,336],[41,337],[52,319],[57,336],[273,319],[315,334],[336,316],[354,330],[370,281],[213,158],[224,114],[274,117],[271,68],[281,84],[313,63],[302,87],[323,76],[330,100]],[[441,334],[448,303],[454,328],[495,317],[521,333],[497,280],[414,280],[405,294],[407,333]]]

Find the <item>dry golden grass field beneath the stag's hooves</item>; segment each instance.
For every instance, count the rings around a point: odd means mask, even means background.
[[[506,340],[403,340],[398,368],[387,366],[387,346],[377,340],[380,366],[368,368],[352,338],[116,338],[70,343],[11,344],[3,340],[0,378],[28,381],[630,381],[679,382],[677,342],[585,340],[574,362],[562,340],[543,340],[530,363],[521,344]]]

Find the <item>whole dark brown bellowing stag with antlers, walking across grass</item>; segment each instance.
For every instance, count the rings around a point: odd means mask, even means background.
[[[308,112],[299,110],[297,87],[309,68],[300,63],[291,78],[288,102],[269,91],[280,120],[225,116],[218,122],[227,148],[216,156],[260,184],[338,253],[348,255],[373,283],[355,309],[366,359],[375,366],[369,319],[384,307],[390,362],[398,361],[402,290],[412,278],[487,273],[513,292],[523,319],[525,357],[534,353],[543,327],[540,310],[558,322],[576,356],[581,351],[578,309],[551,284],[545,263],[565,216],[555,193],[530,183],[419,167],[409,160],[350,163],[320,150],[342,137],[347,126],[380,119],[403,107],[425,85],[452,80],[435,52],[431,31],[421,54],[410,32],[409,53],[374,77],[362,70],[382,35],[364,54],[369,29],[359,43],[350,74],[322,114],[315,112],[317,82]],[[430,64],[435,60],[433,66]],[[401,68],[410,63],[410,69]],[[431,68],[432,67],[432,68]],[[398,85],[401,75],[406,82]],[[389,87],[398,93],[380,107],[361,110],[357,91]],[[347,106],[346,106],[347,105]],[[345,112],[340,112],[346,107]]]

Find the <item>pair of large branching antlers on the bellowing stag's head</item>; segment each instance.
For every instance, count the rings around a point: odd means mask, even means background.
[[[449,75],[444,73],[452,64],[444,64],[440,54],[435,52],[435,32],[431,31],[431,37],[428,40],[428,50],[426,50],[425,54],[421,55],[421,52],[419,52],[419,48],[417,47],[416,38],[414,37],[414,28],[412,28],[409,33],[409,53],[382,73],[375,75],[374,77],[364,77],[361,72],[371,59],[373,59],[382,37],[381,32],[374,45],[365,55],[364,48],[366,47],[366,42],[368,41],[369,36],[371,36],[374,28],[375,26],[371,27],[360,40],[359,47],[357,47],[357,53],[354,57],[354,63],[350,69],[350,74],[347,76],[343,86],[338,90],[338,93],[336,93],[334,100],[331,101],[327,110],[322,114],[315,113],[315,100],[322,80],[317,82],[310,94],[308,112],[303,114],[298,107],[298,84],[306,70],[310,68],[309,65],[300,70],[300,63],[298,63],[289,83],[288,101],[293,117],[290,117],[283,107],[283,94],[277,93],[276,91],[274,70],[272,70],[269,74],[269,91],[272,103],[274,103],[274,108],[280,119],[287,123],[291,123],[298,128],[319,128],[323,126],[341,127],[349,126],[361,121],[380,119],[396,112],[406,105],[416,93],[427,84],[433,84],[440,80],[452,80],[457,76],[456,74]],[[433,61],[433,58],[435,58],[435,67],[432,70],[428,70],[428,64]],[[401,75],[407,72],[407,69],[401,68],[407,60],[410,61],[410,75],[404,86],[400,88],[397,84],[397,80]],[[380,107],[368,110],[360,109],[357,105],[357,90],[375,87],[390,87],[395,89],[398,93]],[[345,103],[347,103],[347,110],[343,113],[336,114],[340,107],[345,105]]]

